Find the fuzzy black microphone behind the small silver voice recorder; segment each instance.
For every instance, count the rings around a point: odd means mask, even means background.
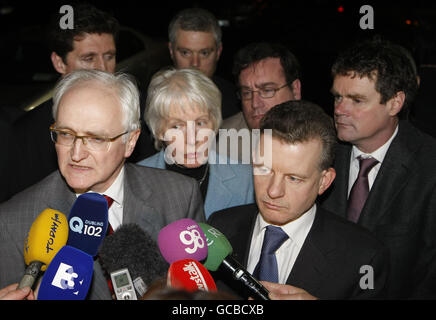
[[[155,280],[165,277],[168,270],[156,242],[136,224],[123,224],[107,236],[99,257],[109,274],[127,268],[139,296]]]

